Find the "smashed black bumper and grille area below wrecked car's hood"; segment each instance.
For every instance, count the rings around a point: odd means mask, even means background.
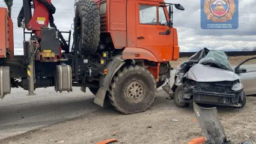
[[[236,83],[239,83],[239,80],[196,82],[195,80],[186,79],[184,80],[183,98],[193,100],[195,103],[241,107],[244,94],[242,89],[232,90]]]

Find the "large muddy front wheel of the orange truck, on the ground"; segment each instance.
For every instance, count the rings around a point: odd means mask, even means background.
[[[113,77],[109,102],[124,114],[147,110],[156,97],[156,81],[144,67],[133,65],[119,70]]]

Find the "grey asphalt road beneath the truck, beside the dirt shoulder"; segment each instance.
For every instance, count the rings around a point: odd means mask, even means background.
[[[94,95],[88,89],[84,93],[73,87],[73,92],[59,94],[54,88],[40,88],[34,96],[27,94],[22,88],[13,88],[0,100],[0,139],[102,109],[93,103]]]

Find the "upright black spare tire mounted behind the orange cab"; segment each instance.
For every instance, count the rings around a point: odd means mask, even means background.
[[[78,17],[78,50],[82,54],[93,54],[100,41],[100,14],[97,4],[91,0],[78,1],[76,17]]]

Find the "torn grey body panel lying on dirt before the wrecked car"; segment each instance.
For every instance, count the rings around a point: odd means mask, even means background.
[[[219,121],[216,107],[204,108],[194,102],[198,123],[208,143],[226,143],[224,129]]]

